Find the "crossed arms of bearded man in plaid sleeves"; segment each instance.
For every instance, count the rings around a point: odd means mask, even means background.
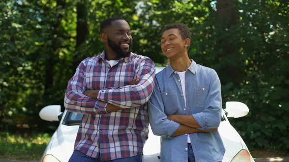
[[[68,111],[81,114],[103,114],[122,108],[138,107],[149,100],[155,76],[155,66],[150,59],[137,61],[134,76],[139,79],[137,84],[132,81],[131,85],[90,91],[87,91],[89,82],[86,77],[86,69],[95,67],[87,62],[84,60],[79,64],[74,76],[68,82],[64,99],[64,106]]]

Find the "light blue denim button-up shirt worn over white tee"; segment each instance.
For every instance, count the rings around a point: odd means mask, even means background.
[[[155,77],[148,114],[153,133],[162,137],[161,161],[188,162],[187,136],[196,162],[222,161],[225,148],[218,131],[172,136],[180,123],[168,120],[168,115],[193,115],[199,129],[217,128],[221,121],[221,85],[216,71],[192,60],[185,76],[186,106],[180,78],[170,65]]]

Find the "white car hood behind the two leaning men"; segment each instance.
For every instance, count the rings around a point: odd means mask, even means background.
[[[73,152],[78,127],[78,125],[60,124],[51,137],[45,155],[51,154],[60,162],[68,162]],[[230,162],[241,149],[247,150],[245,143],[229,121],[222,121],[218,131],[225,148],[227,148],[222,162]],[[157,158],[159,155],[160,137],[153,135],[149,127],[148,140],[144,146],[143,162],[160,162]]]

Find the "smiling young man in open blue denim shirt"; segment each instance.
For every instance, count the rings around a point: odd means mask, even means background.
[[[220,81],[215,70],[188,57],[191,34],[185,24],[168,24],[161,47],[169,65],[156,75],[148,103],[149,121],[162,136],[162,162],[219,162],[225,149]]]

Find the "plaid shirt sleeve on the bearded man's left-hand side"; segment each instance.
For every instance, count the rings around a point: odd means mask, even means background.
[[[85,61],[82,61],[72,79],[68,82],[64,97],[64,107],[68,111],[81,114],[106,113],[107,102],[98,101],[83,94],[86,88],[85,67]]]

